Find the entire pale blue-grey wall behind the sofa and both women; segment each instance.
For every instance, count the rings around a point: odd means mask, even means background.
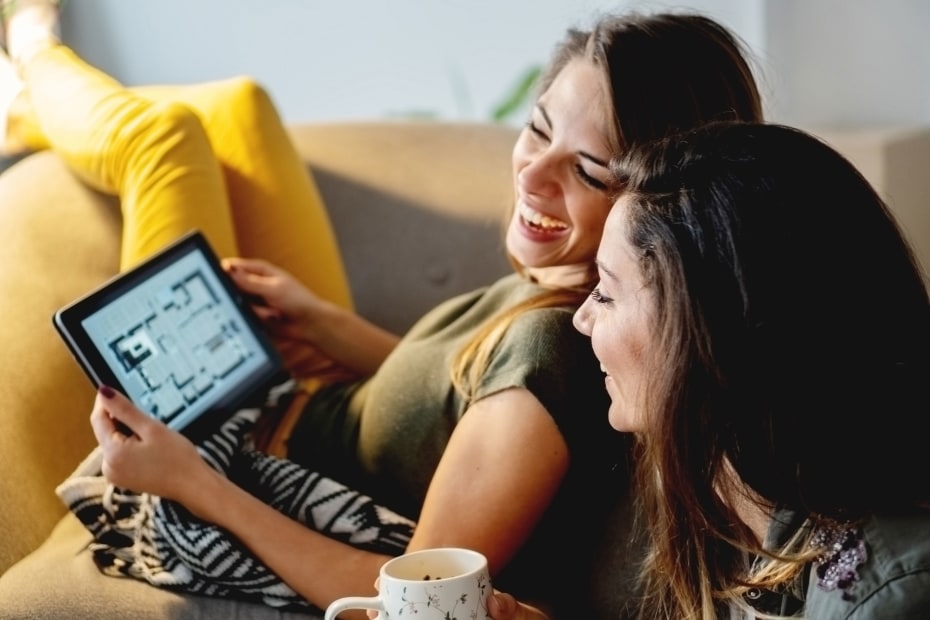
[[[127,84],[247,73],[287,120],[481,120],[567,26],[629,8],[730,26],[773,120],[930,125],[926,0],[71,0],[63,22]]]

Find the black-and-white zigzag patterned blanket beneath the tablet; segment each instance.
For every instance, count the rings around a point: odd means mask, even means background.
[[[251,449],[258,409],[237,412],[198,450],[211,467],[279,512],[354,547],[399,555],[414,522],[338,482]],[[174,591],[319,611],[232,535],[176,502],[133,493],[101,475],[96,448],[56,489],[93,535],[91,552],[106,575]]]

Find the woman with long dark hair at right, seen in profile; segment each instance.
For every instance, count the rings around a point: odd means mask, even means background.
[[[635,438],[640,617],[926,618],[930,300],[881,198],[777,125],[614,172],[575,324]]]

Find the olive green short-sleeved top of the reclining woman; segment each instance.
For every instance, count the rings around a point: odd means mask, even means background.
[[[449,437],[470,405],[452,386],[453,359],[489,319],[542,291],[514,274],[439,305],[414,325],[374,376],[316,394],[294,429],[288,456],[416,519]],[[479,399],[526,388],[569,447],[570,471],[558,497],[495,580],[496,587],[552,604],[548,595],[555,592],[577,601],[577,588],[588,582],[606,514],[597,490],[613,484],[611,466],[623,458],[622,440],[607,421],[603,373],[590,340],[574,329],[572,315],[572,308],[522,313],[476,388]],[[560,559],[553,563],[555,558]],[[556,589],[558,579],[567,579],[568,586]]]

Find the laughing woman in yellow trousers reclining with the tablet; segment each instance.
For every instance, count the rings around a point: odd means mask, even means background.
[[[622,439],[597,413],[607,407],[597,363],[571,325],[613,202],[607,164],[707,121],[757,120],[737,39],[710,19],[674,14],[569,32],[513,150],[506,245],[517,273],[440,305],[398,338],[351,311],[325,208],[260,87],[126,89],[58,43],[53,2],[14,9],[6,40],[24,96],[10,106],[8,144],[52,148],[119,196],[124,268],[202,230],[233,280],[264,300],[256,311],[306,379],[294,405],[259,421],[275,423],[263,447],[401,513],[406,538],[371,549],[315,531],[103,387],[92,424],[107,480],[232,534],[296,592],[265,601],[325,607],[370,589],[389,554],[443,545],[482,551],[497,584],[553,609],[561,595],[586,593],[589,568],[578,567],[594,564],[585,543],[611,499],[602,491],[623,483],[611,471]],[[123,425],[131,434],[115,432]],[[552,554],[563,570],[544,561]],[[196,570],[204,591],[245,596],[234,575]],[[561,581],[569,587],[554,587]]]

